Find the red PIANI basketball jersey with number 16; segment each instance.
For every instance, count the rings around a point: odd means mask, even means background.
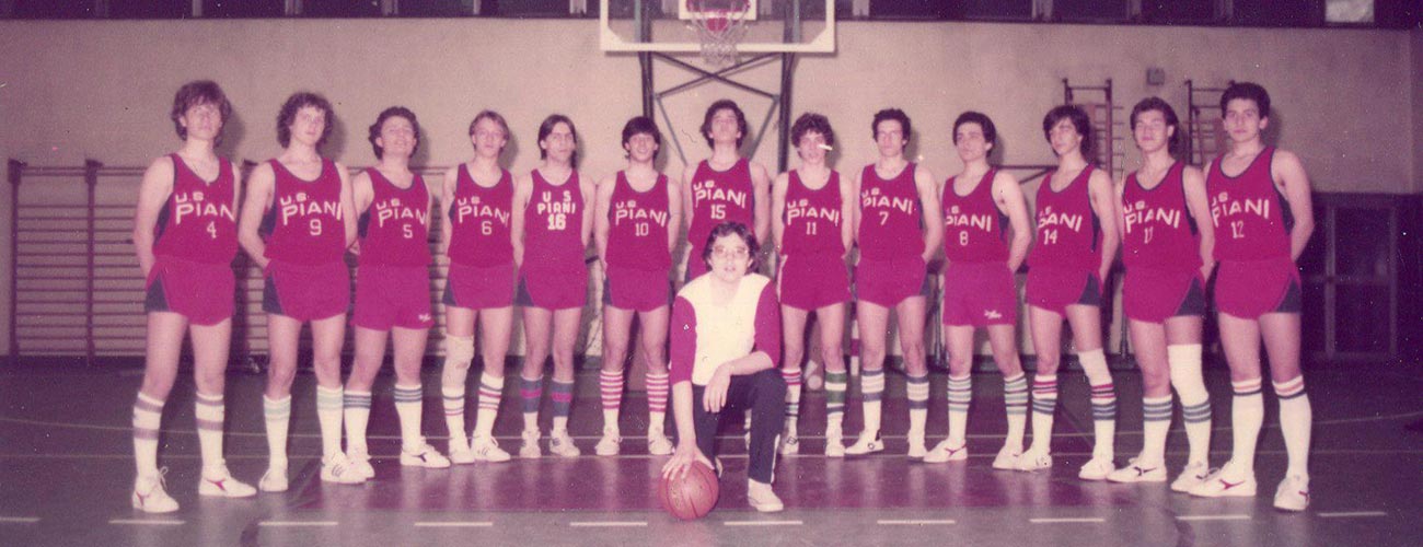
[[[583,267],[583,193],[578,170],[552,185],[534,169],[534,192],[524,207],[524,269],[566,271]]]

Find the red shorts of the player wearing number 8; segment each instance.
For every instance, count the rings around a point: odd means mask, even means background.
[[[1005,263],[949,263],[943,271],[943,324],[1017,324],[1017,283]]]

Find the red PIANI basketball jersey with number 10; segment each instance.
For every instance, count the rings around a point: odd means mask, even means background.
[[[619,170],[613,183],[612,203],[608,206],[608,264],[636,270],[667,270],[667,176],[647,192],[638,192]]]

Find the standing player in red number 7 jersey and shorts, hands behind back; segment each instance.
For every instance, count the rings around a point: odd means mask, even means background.
[[[885,389],[885,345],[889,311],[899,325],[909,395],[909,457],[924,457],[924,423],[929,415],[929,368],[924,361],[924,317],[928,261],[943,237],[938,183],[929,169],[911,162],[904,151],[914,128],[898,108],[875,112],[871,124],[879,159],[855,176],[855,320],[859,321],[859,391],[865,429],[847,455],[884,450],[879,408]]]

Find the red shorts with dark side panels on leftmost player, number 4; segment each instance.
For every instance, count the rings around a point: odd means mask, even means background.
[[[231,264],[205,264],[158,256],[148,271],[144,311],[168,311],[195,325],[215,325],[232,317],[236,281]]]

